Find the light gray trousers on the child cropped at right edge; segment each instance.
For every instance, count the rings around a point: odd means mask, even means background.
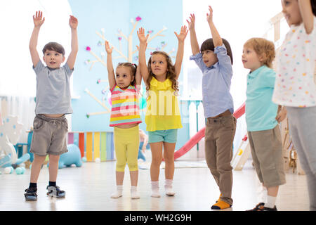
[[[289,131],[308,182],[310,211],[316,211],[316,106],[287,107]]]

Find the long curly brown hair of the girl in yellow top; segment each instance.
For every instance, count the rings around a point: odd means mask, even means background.
[[[175,91],[179,91],[178,81],[176,79],[176,70],[175,70],[174,65],[171,61],[170,56],[164,51],[154,51],[152,53],[152,56],[154,56],[154,55],[162,55],[166,58],[167,69],[168,69],[167,74],[166,74],[166,78],[171,80],[172,89]],[[150,59],[148,60],[148,65],[147,65],[148,75],[149,75],[149,77],[146,81],[146,90],[147,91],[149,91],[149,89],[150,89],[150,82],[152,81],[152,77],[156,78],[156,75],[154,75],[154,73],[152,72],[151,65],[152,65],[152,57],[150,56]]]

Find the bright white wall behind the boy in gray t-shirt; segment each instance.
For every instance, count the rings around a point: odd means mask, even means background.
[[[0,1],[0,96],[35,96],[36,80],[29,55],[29,38],[34,27],[32,16],[43,11],[45,23],[38,41],[42,58],[44,45],[56,41],[70,53],[69,15],[67,0],[1,0]]]

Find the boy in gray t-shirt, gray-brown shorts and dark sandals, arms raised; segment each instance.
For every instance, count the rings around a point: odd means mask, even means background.
[[[70,96],[70,76],[74,71],[74,62],[78,52],[77,26],[78,20],[70,15],[69,25],[72,33],[71,52],[64,66],[64,48],[55,42],[44,46],[41,63],[37,52],[39,30],[45,18],[41,11],[33,15],[34,30],[29,41],[34,72],[37,75],[36,117],[33,122],[31,152],[34,153],[29,188],[25,190],[25,200],[37,200],[37,179],[41,165],[48,154],[49,184],[47,195],[55,198],[65,198],[65,191],[56,186],[58,161],[62,153],[67,152],[66,134],[68,124],[65,114],[72,113]]]

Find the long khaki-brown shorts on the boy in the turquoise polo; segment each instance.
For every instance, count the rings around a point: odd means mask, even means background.
[[[279,125],[265,131],[248,131],[248,138],[254,167],[261,183],[267,188],[285,184]]]

